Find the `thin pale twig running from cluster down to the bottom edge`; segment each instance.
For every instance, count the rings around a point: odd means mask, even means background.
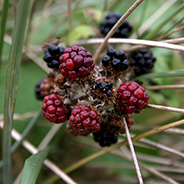
[[[132,153],[132,158],[133,158],[133,162],[134,162],[134,165],[135,165],[135,170],[136,170],[136,173],[137,173],[137,177],[138,177],[139,183],[143,184],[141,170],[139,168],[139,164],[138,164],[138,161],[137,161],[135,150],[134,150],[134,147],[133,147],[133,144],[132,144],[132,139],[130,137],[129,129],[128,129],[125,118],[123,118],[123,123],[125,125],[126,136],[127,136],[127,140],[128,140],[128,144],[129,144],[131,153]]]

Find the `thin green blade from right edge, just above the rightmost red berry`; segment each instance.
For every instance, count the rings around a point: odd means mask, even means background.
[[[184,69],[145,74],[139,77],[135,77],[133,78],[133,80],[154,79],[154,78],[162,78],[162,77],[184,77]]]

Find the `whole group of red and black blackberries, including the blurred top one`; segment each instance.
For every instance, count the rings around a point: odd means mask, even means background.
[[[102,33],[107,34],[120,17],[109,13],[101,23]],[[113,37],[127,37],[131,30],[126,20]],[[125,133],[124,119],[130,129],[134,124],[131,114],[148,106],[149,96],[142,86],[136,82],[121,84],[121,80],[129,79],[129,65],[137,75],[141,73],[137,67],[141,71],[151,69],[156,60],[151,51],[133,52],[128,63],[127,54],[109,48],[102,65],[95,66],[91,53],[82,46],[50,45],[44,60],[53,70],[37,83],[36,97],[44,98],[43,116],[57,124],[67,121],[66,131],[71,135],[93,133],[100,146],[110,146]]]

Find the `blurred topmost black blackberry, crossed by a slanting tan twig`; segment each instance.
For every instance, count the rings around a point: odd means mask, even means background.
[[[109,33],[111,28],[116,24],[116,22],[121,18],[120,13],[110,12],[106,15],[105,20],[100,24],[100,32],[105,36]],[[121,26],[116,30],[112,37],[114,38],[127,38],[132,31],[132,25],[125,20]]]

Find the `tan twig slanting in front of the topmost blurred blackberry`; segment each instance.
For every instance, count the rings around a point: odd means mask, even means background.
[[[120,27],[120,25],[125,21],[125,19],[143,2],[143,0],[137,0],[128,10],[127,12],[118,20],[118,22],[113,26],[113,28],[109,31],[107,36],[104,39],[104,42],[101,43],[99,48],[97,49],[94,60],[96,61],[103,50],[104,46],[107,44],[108,39],[115,33],[115,31]]]

